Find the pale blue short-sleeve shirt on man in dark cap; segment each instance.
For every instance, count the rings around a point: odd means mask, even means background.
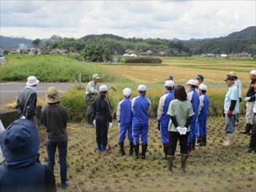
[[[230,109],[231,100],[237,101],[234,107],[234,110],[232,110],[232,114],[238,114],[239,113],[239,90],[238,86],[235,84],[233,86],[230,86],[230,88],[226,92],[225,102],[224,102],[224,111],[225,114],[227,114],[227,111]]]

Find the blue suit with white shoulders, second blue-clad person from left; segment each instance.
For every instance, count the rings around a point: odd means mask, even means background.
[[[148,142],[149,132],[149,114],[150,114],[150,100],[146,96],[140,94],[132,100],[133,128],[132,136],[134,145],[139,145],[139,136],[141,135],[142,144]]]

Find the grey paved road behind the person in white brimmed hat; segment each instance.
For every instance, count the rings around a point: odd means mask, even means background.
[[[70,82],[39,82],[37,87],[38,98],[44,98],[46,90],[49,86],[56,86],[58,90],[66,91],[70,87],[75,86],[75,83]],[[23,82],[2,82],[0,83],[0,106],[5,105],[8,102],[12,102],[18,98],[18,93],[26,86]],[[82,83],[82,86],[86,86],[86,83]]]

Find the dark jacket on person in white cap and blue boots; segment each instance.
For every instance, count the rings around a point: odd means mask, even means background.
[[[96,98],[92,107],[94,108],[94,117],[96,117],[96,115],[103,115],[106,116],[108,122],[112,122],[111,104],[110,101],[106,99],[106,95],[101,94]]]

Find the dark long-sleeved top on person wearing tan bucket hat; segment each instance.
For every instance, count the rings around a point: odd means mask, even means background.
[[[66,108],[59,104],[48,104],[42,107],[41,114],[42,123],[46,126],[47,141],[66,141],[66,122],[68,121]]]

